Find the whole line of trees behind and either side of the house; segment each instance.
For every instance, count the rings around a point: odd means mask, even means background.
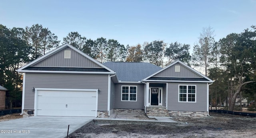
[[[215,81],[210,85],[211,97],[215,93],[211,104],[220,104],[228,97],[232,105],[241,91],[244,96],[255,100],[256,27],[245,29],[240,34],[229,34],[219,41],[214,36],[213,28],[203,28],[192,55],[189,44],[177,41],[155,40],[124,46],[115,39],[99,37],[93,40],[78,32],[68,33],[62,44],[69,43],[100,63],[149,62],[164,67],[180,60],[194,67],[203,67],[205,75]],[[11,29],[0,24],[0,85],[9,90],[7,101],[10,106],[13,101],[18,101],[14,103],[18,104],[21,99],[22,75],[15,70],[62,44],[54,33],[39,24]],[[233,108],[234,105],[230,106],[230,110]]]

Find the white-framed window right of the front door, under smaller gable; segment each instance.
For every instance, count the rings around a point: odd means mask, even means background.
[[[196,85],[179,85],[179,102],[196,102]]]

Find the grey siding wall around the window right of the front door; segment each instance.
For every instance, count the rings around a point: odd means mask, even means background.
[[[196,103],[179,102],[179,85],[196,85]],[[207,83],[168,83],[167,109],[172,111],[207,111]]]

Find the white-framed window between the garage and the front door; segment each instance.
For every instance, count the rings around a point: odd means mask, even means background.
[[[137,101],[137,86],[122,86],[121,101]]]

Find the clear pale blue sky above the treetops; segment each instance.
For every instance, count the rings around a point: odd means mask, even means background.
[[[256,25],[256,0],[1,0],[0,24],[42,24],[63,40],[69,32],[124,45],[178,41],[191,45],[203,27],[219,40]]]

